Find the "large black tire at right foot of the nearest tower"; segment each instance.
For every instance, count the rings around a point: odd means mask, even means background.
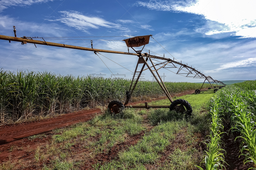
[[[183,106],[183,107],[182,107]],[[192,107],[188,103],[188,101],[183,99],[177,99],[172,102],[170,105],[170,110],[174,110],[176,112],[186,112],[186,115],[191,116],[192,114]]]

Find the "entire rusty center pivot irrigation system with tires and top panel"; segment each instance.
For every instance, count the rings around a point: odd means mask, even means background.
[[[78,47],[78,46],[72,46],[72,45],[66,45],[66,44],[59,44],[59,43],[53,43],[53,42],[46,42],[44,40],[43,37],[20,37],[18,38],[16,36],[16,29],[15,26],[13,26],[14,28],[14,35],[15,37],[11,37],[11,36],[5,36],[5,35],[0,35],[0,39],[1,40],[8,40],[9,42],[11,41],[19,41],[21,42],[21,44],[27,44],[27,43],[32,43],[32,44],[41,44],[41,45],[47,45],[47,46],[55,46],[55,47],[63,47],[63,48],[72,48],[72,49],[80,49],[80,50],[87,50],[87,51],[93,51],[96,55],[100,54],[100,52],[104,52],[104,53],[115,53],[115,54],[124,54],[124,55],[134,55],[134,56],[138,56],[138,62],[133,74],[133,78],[132,78],[132,82],[130,85],[130,88],[128,91],[126,91],[126,101],[125,103],[121,103],[120,101],[111,101],[108,104],[108,110],[116,115],[118,113],[120,113],[122,111],[122,109],[124,109],[125,107],[132,107],[132,108],[170,108],[170,110],[175,110],[176,112],[183,112],[186,113],[186,115],[191,115],[192,113],[192,107],[191,105],[188,103],[188,101],[183,100],[183,99],[178,99],[178,100],[172,100],[172,97],[170,95],[170,93],[168,92],[166,86],[164,85],[164,81],[162,80],[161,76],[158,73],[159,69],[166,69],[169,70],[175,74],[179,74],[181,76],[184,77],[190,77],[190,78],[205,78],[205,81],[207,80],[210,85],[212,86],[208,88],[207,91],[217,91],[217,88],[221,88],[223,86],[225,86],[224,83],[217,81],[217,80],[213,80],[211,77],[209,76],[205,76],[203,73],[201,73],[200,71],[196,70],[195,68],[192,68],[192,66],[188,66],[188,64],[182,64],[181,61],[174,61],[174,57],[173,60],[170,58],[165,58],[165,57],[160,57],[160,56],[156,56],[156,55],[150,55],[150,51],[149,54],[148,53],[141,53],[143,48],[145,47],[146,44],[149,43],[149,38],[152,37],[152,35],[145,35],[145,36],[136,36],[136,37],[132,37],[132,38],[128,38],[125,39],[123,41],[125,41],[127,47],[128,47],[128,53],[127,52],[121,52],[121,51],[111,51],[111,50],[103,50],[103,49],[95,49],[95,48],[86,48],[86,47]],[[42,38],[43,41],[38,41],[38,40],[33,40],[33,38]],[[153,37],[152,37],[153,38]],[[153,38],[154,39],[154,38]],[[91,41],[92,42],[92,41]],[[91,43],[92,44],[92,43]],[[134,47],[142,47],[141,50],[135,50]],[[129,47],[131,47],[136,53],[129,53]],[[104,56],[104,55],[103,55]],[[152,66],[151,66],[152,65]],[[146,68],[145,68],[146,66]],[[170,70],[172,69],[172,70]],[[176,69],[176,70],[174,70]],[[162,88],[162,90],[164,91],[165,95],[167,96],[167,98],[170,100],[171,105],[167,105],[167,106],[156,106],[156,105],[148,105],[147,102],[145,102],[145,106],[132,106],[132,105],[128,105],[131,96],[132,96],[132,92],[134,91],[141,73],[145,70],[149,70],[151,72],[151,74],[154,76],[154,78],[156,79],[157,83],[160,85],[160,87]],[[135,80],[135,75],[137,75],[138,77]],[[214,83],[216,83],[216,86],[213,86]],[[218,85],[218,84],[219,85]],[[203,87],[203,85],[202,85]],[[202,89],[201,87],[201,89]],[[196,89],[196,93],[200,93],[201,89]],[[213,89],[213,90],[211,90]]]

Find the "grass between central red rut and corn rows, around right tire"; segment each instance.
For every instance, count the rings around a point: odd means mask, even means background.
[[[183,135],[187,150],[176,148],[166,159],[165,164],[159,165],[159,169],[196,169],[203,157],[202,152],[193,146],[196,144],[196,134],[209,130],[209,114],[207,114],[207,101],[213,97],[213,93],[199,95],[186,95],[182,99],[193,103],[191,118],[177,114],[169,109],[149,110],[149,123],[155,127],[143,136],[143,138],[128,150],[119,153],[117,160],[106,163],[103,166],[94,165],[95,169],[146,169],[147,165],[158,164],[162,153],[172,142],[177,134]],[[153,101],[149,104],[166,105],[169,100]],[[195,108],[194,108],[195,106]],[[199,127],[199,128],[198,128]],[[184,149],[184,148],[182,148]],[[197,155],[195,157],[195,155]]]

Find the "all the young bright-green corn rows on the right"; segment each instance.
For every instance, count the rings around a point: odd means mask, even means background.
[[[256,90],[255,80],[225,87],[216,93],[215,97],[211,100],[212,122],[215,123],[212,123],[212,127],[210,128],[211,139],[205,141],[209,150],[205,156],[207,170],[217,169],[218,166],[222,168],[224,163],[224,150],[220,147],[222,144],[220,135],[223,133],[221,132],[223,130],[223,125],[221,125],[222,118],[229,119],[232,125],[231,129],[240,132],[241,135],[236,137],[236,139],[243,139],[243,147],[240,152],[241,155],[245,156],[244,164],[253,162],[254,167],[250,169],[256,169],[256,96],[255,91],[252,90]],[[213,147],[211,143],[214,144]],[[211,162],[210,160],[213,161]],[[201,167],[199,168],[202,169]]]

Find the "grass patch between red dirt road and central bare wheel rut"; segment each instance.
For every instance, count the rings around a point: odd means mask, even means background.
[[[123,143],[127,136],[134,136],[146,128],[143,126],[142,116],[134,112],[135,109],[126,109],[119,117],[112,117],[107,111],[98,115],[89,122],[78,123],[68,128],[55,130],[57,135],[52,136],[52,144],[47,146],[45,157],[59,155],[44,169],[79,169],[74,166],[76,161],[70,162],[72,146],[82,144],[84,149],[89,149],[92,155],[106,153],[115,144]],[[90,141],[96,137],[97,141]],[[56,147],[58,145],[59,147]],[[39,153],[36,160],[39,161]],[[68,161],[69,160],[69,161]]]

